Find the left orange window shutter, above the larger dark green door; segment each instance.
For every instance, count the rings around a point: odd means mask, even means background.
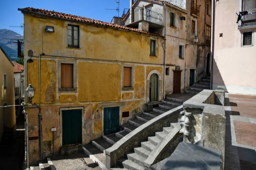
[[[73,64],[61,64],[61,88],[73,88]]]

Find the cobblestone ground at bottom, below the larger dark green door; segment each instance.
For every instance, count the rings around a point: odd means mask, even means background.
[[[77,167],[84,167],[86,170],[102,170],[82,150],[69,156],[50,157],[56,170],[74,170]]]

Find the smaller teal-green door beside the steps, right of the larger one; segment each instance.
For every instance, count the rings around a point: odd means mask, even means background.
[[[119,131],[119,107],[104,108],[104,134]]]

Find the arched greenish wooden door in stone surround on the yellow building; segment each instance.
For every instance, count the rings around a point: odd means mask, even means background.
[[[158,100],[158,76],[152,74],[149,81],[149,101]]]

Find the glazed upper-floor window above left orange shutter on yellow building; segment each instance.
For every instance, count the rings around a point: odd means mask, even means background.
[[[67,25],[67,46],[79,48],[79,26]]]

